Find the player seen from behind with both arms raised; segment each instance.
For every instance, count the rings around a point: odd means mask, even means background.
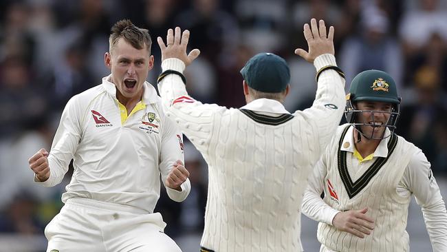
[[[318,26],[312,19],[304,34],[309,52],[295,52],[314,63],[318,90],[312,107],[293,114],[282,105],[290,90],[290,70],[281,57],[252,57],[241,70],[247,105],[227,109],[202,104],[186,92],[184,69],[199,54],[197,49],[186,54],[188,30],[168,30],[166,45],[158,38],[163,60],[159,90],[166,114],[209,167],[201,251],[303,251],[301,199],[307,176],[345,106],[334,28],[327,33],[324,21]]]

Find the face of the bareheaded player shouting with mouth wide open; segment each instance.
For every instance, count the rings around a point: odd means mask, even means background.
[[[120,38],[111,52],[105,54],[105,64],[111,69],[111,81],[118,90],[118,100],[141,98],[144,81],[153,68],[153,56],[146,47],[138,50]]]

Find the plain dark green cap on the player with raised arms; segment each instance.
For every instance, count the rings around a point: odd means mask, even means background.
[[[249,87],[265,93],[279,93],[290,83],[290,70],[283,58],[261,52],[249,59],[241,69]]]

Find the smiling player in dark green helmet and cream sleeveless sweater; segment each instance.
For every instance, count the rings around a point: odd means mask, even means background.
[[[433,251],[447,251],[446,205],[430,162],[393,133],[400,114],[395,81],[386,72],[361,72],[346,99],[348,123],[338,127],[303,198],[303,213],[320,222],[320,251],[409,251],[413,195]]]

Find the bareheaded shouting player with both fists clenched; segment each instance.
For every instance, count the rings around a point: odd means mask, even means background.
[[[111,74],[70,99],[50,152],[41,149],[29,160],[34,181],[52,187],[74,159],[65,205],[45,229],[48,252],[180,251],[153,212],[160,175],[177,202],[190,182],[182,134],[146,82],[151,43],[148,30],[129,20],[113,25],[105,53]]]

